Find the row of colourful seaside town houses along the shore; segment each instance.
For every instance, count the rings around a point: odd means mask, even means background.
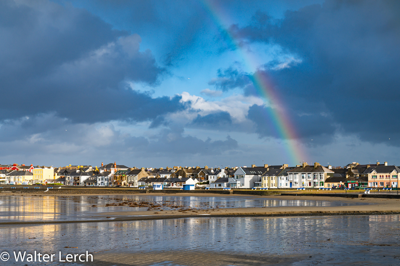
[[[230,167],[173,166],[166,168],[137,168],[114,163],[101,166],[68,165],[33,166],[33,164],[0,165],[0,184],[66,185],[66,186],[124,186],[205,189],[332,189],[332,188],[389,188],[398,186],[400,169],[387,162],[341,166],[268,165]],[[188,187],[189,187],[188,186]],[[185,188],[186,189],[186,188]]]

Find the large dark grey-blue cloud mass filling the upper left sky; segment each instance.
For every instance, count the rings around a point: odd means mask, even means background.
[[[157,84],[165,70],[141,38],[70,5],[0,2],[0,119],[56,114],[73,122],[152,120],[183,108],[130,82]]]

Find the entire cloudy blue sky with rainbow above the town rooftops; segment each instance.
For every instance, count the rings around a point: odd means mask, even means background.
[[[0,164],[400,163],[398,1],[0,1]]]

